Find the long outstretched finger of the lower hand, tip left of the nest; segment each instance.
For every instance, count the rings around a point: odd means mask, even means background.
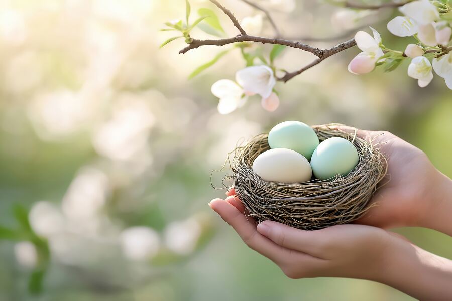
[[[221,218],[236,230],[242,240],[253,250],[261,253],[265,257],[273,260],[275,263],[290,254],[289,250],[275,244],[270,239],[259,234],[256,226],[247,220],[247,217],[237,210],[236,207],[230,203],[214,199],[209,203],[209,206],[217,212]]]

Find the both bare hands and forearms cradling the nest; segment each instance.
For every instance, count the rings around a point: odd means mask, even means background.
[[[354,131],[349,127],[341,127]],[[388,158],[387,184],[359,224],[315,231],[273,221],[256,223],[234,188],[209,206],[253,250],[275,262],[290,278],[347,277],[373,280],[422,300],[452,299],[452,261],[420,249],[384,229],[423,226],[452,235],[452,182],[415,146],[388,132],[358,131],[382,143]]]

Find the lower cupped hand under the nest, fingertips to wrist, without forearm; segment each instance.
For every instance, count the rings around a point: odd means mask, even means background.
[[[377,280],[387,254],[400,238],[380,228],[338,225],[315,231],[273,221],[259,225],[246,216],[236,196],[214,199],[209,206],[230,224],[253,250],[275,262],[290,278],[352,277]]]

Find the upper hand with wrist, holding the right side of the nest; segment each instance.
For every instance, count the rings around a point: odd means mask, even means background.
[[[348,126],[341,130],[354,132]],[[375,193],[375,203],[357,223],[392,228],[422,226],[452,235],[452,181],[441,174],[422,150],[387,131],[358,130],[357,135],[380,150],[388,162],[385,183]]]

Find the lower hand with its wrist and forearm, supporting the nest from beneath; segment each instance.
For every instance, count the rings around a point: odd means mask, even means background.
[[[253,250],[290,278],[348,277],[391,285],[420,299],[452,297],[452,261],[430,254],[397,234],[366,225],[305,231],[277,222],[257,224],[236,196],[209,206]]]

